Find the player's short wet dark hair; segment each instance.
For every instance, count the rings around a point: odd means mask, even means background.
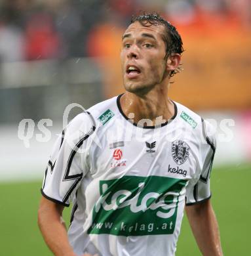
[[[164,26],[163,41],[166,44],[166,55],[164,56],[165,59],[168,58],[168,56],[170,56],[172,53],[183,53],[182,37],[176,28],[172,26],[170,22],[159,16],[157,12],[142,12],[142,14],[139,14],[138,16],[132,16],[130,24],[134,22],[140,22],[140,24],[145,27],[159,25]],[[170,77],[180,72],[180,70],[182,69],[179,67],[170,72]]]

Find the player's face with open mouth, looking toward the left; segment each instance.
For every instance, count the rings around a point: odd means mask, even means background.
[[[121,64],[126,91],[147,93],[166,77],[164,26],[130,24],[123,35]]]

